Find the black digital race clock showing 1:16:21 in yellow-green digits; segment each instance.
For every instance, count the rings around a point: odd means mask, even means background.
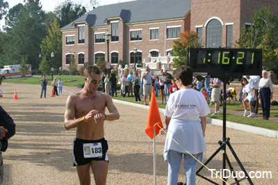
[[[238,77],[260,75],[262,70],[261,49],[190,48],[187,57],[195,74]]]

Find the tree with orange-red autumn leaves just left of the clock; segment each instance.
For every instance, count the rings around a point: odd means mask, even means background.
[[[184,31],[183,33],[180,33],[179,38],[173,42],[172,56],[177,56],[177,58],[173,59],[173,67],[186,65],[186,54],[188,48],[202,47],[202,45],[198,42],[198,35],[194,31]]]

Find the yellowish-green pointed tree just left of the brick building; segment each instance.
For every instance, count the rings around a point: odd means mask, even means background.
[[[42,40],[40,49],[47,60],[51,60],[51,52],[54,52],[54,58],[52,58],[54,68],[58,69],[62,65],[62,32],[56,18],[50,24],[47,37]]]

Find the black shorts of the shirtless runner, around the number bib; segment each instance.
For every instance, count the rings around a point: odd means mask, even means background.
[[[84,158],[83,154],[83,143],[101,143],[102,147],[102,156],[99,157],[93,157],[93,158]],[[72,143],[73,146],[73,159],[74,159],[74,166],[83,166],[90,161],[107,161],[108,162],[108,142],[105,138],[101,138],[99,140],[83,140],[79,138],[74,138],[74,141]]]

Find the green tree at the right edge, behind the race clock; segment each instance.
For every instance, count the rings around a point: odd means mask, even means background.
[[[243,26],[236,47],[256,48],[263,50],[263,69],[271,70],[277,67],[278,61],[278,17],[270,8],[254,11],[252,24],[249,28]]]

